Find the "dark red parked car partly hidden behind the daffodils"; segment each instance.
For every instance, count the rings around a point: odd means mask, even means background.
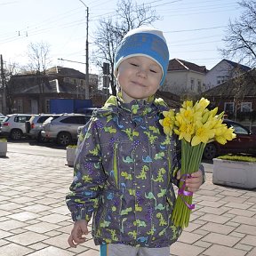
[[[256,154],[256,134],[232,120],[224,119],[223,123],[234,128],[236,138],[228,141],[225,145],[221,145],[217,141],[206,144],[203,155],[205,159],[212,160],[216,156],[225,154]]]

